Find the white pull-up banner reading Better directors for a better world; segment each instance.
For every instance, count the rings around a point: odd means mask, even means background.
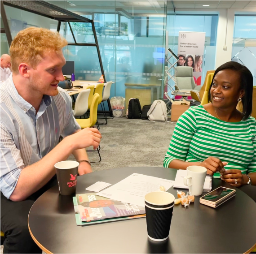
[[[179,32],[177,66],[190,66],[196,85],[201,85],[205,33]]]

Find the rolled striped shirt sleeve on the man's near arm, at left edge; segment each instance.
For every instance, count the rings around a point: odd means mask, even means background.
[[[13,136],[0,121],[0,191],[6,198],[13,193],[22,168],[23,160]]]

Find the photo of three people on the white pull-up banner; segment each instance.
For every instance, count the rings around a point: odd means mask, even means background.
[[[201,85],[201,76],[202,76],[202,64],[203,56],[202,55],[185,55],[178,54],[177,66],[189,66],[193,68],[194,82],[197,86]]]

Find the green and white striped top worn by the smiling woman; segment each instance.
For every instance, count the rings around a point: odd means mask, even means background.
[[[202,162],[209,156],[228,162],[225,169],[256,172],[255,118],[230,123],[212,116],[202,105],[189,108],[177,121],[163,166],[168,168],[173,159]]]

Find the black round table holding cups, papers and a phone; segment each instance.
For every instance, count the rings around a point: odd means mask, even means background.
[[[78,178],[78,187],[96,181],[115,184],[132,173],[174,180],[176,169],[157,167],[116,168]],[[214,179],[213,189],[225,186]],[[232,188],[235,189],[235,188]],[[177,197],[177,189],[168,192]],[[146,218],[76,226],[71,196],[61,196],[57,187],[38,198],[28,217],[31,236],[46,253],[53,254],[243,254],[256,244],[256,203],[236,189],[235,198],[216,209],[199,203],[173,210],[168,240],[147,237]]]

